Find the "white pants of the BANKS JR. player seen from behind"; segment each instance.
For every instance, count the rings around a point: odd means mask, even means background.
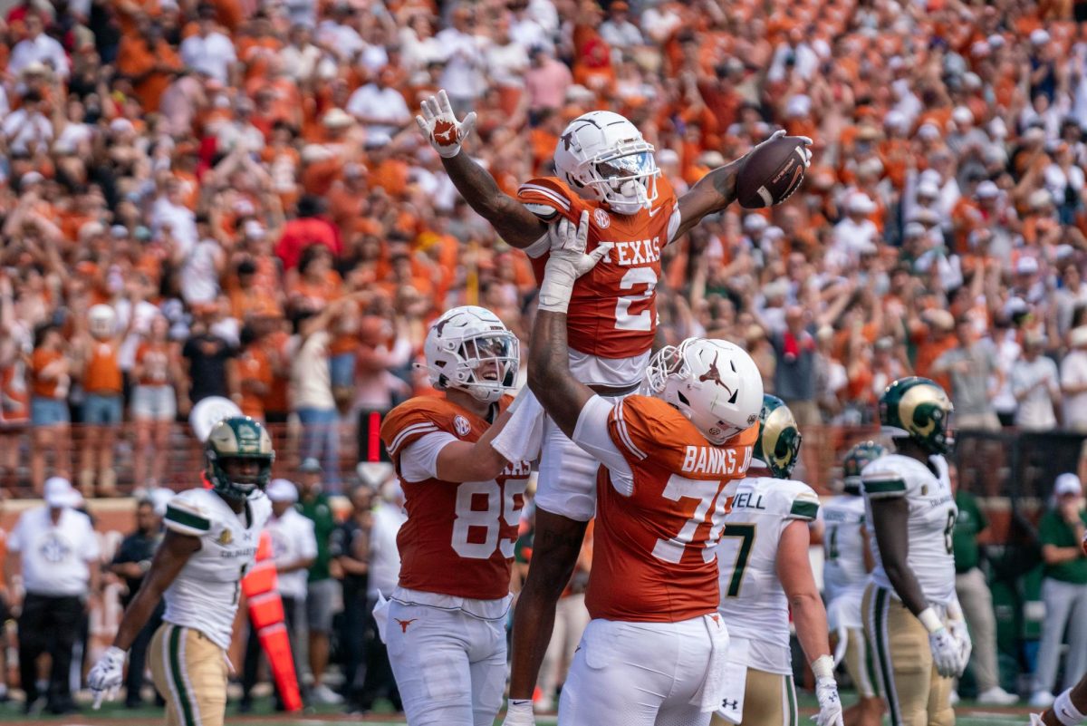
[[[559,726],[707,726],[721,700],[727,648],[716,615],[595,619],[562,687]]]

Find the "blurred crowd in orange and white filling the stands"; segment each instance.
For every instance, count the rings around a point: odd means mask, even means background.
[[[334,490],[447,306],[535,285],[417,135],[445,88],[513,192],[629,116],[683,191],[777,127],[803,188],[669,246],[661,342],[748,347],[802,427],[894,378],[960,427],[1087,428],[1087,3],[29,0],[0,23],[0,481],[189,485],[208,396]],[[524,348],[523,348],[524,350]],[[822,467],[811,467],[819,468]],[[821,472],[811,478],[823,483]]]

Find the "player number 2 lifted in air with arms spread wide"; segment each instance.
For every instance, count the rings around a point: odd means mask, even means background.
[[[574,286],[567,320],[570,368],[596,393],[615,402],[637,390],[657,328],[655,287],[661,249],[736,199],[742,159],[713,170],[677,198],[661,176],[653,146],[625,117],[591,111],[572,121],[555,146],[555,176],[534,178],[516,197],[462,153],[475,113],[458,121],[445,91],[423,102],[416,122],[442,157],[467,203],[544,275],[559,220],[589,215],[588,249],[611,243],[601,264]],[[785,132],[777,132],[772,139]],[[804,145],[811,143],[804,139]],[[800,147],[807,161],[807,146]],[[598,462],[572,443],[561,427],[540,420],[527,396],[496,447],[511,460],[540,455],[533,566],[514,612],[509,726],[532,724],[532,696],[551,638],[554,609],[570,581],[585,528],[596,509]],[[528,433],[532,435],[527,435]],[[542,452],[540,453],[540,445]]]

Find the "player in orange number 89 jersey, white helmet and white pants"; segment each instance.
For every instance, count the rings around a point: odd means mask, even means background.
[[[517,339],[489,310],[453,308],[424,343],[443,398],[392,410],[382,439],[403,487],[400,581],[375,609],[412,726],[491,726],[505,688],[510,571],[530,466],[490,440],[509,418]]]

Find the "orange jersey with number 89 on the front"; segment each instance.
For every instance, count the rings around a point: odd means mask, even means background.
[[[512,401],[503,397],[501,409]],[[420,397],[393,409],[382,441],[401,472],[401,453],[428,434],[476,441],[490,426],[445,398]],[[532,466],[509,464],[489,481],[404,481],[408,522],[397,536],[400,586],[460,598],[497,600],[510,591],[513,546]]]

